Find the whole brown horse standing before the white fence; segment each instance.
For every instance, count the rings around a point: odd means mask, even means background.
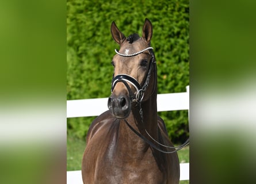
[[[109,110],[87,133],[83,183],[179,183],[178,155],[157,114],[152,24],[146,18],[142,37],[125,37],[115,22],[110,30],[120,50],[112,59]]]

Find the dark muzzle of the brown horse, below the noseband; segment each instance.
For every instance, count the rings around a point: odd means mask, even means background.
[[[114,117],[124,119],[131,112],[131,101],[127,95],[116,96],[112,94],[108,99],[108,108]]]

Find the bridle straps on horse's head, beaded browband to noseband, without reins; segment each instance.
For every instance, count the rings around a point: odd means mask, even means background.
[[[117,49],[114,50],[114,51],[116,51],[116,53],[118,55],[123,56],[123,57],[136,56],[136,55],[139,55],[140,53],[143,53],[144,51],[147,51],[147,50],[150,51],[151,62],[150,62],[150,68],[148,69],[147,78],[146,78],[144,84],[140,85],[140,83],[135,78],[133,78],[131,75],[119,74],[119,75],[116,75],[115,77],[113,77],[113,79],[112,79],[111,92],[113,92],[114,87],[116,86],[116,84],[118,82],[123,82],[129,91],[129,96],[130,96],[131,102],[141,102],[142,101],[142,99],[144,97],[144,93],[145,93],[145,91],[149,85],[149,82],[150,82],[152,65],[153,65],[153,63],[155,63],[155,55],[153,52],[153,48],[147,47],[146,49],[143,49],[142,51],[132,53],[132,54],[123,54],[123,53],[120,53],[119,51],[117,51]],[[130,83],[133,87],[135,87],[136,93],[132,93],[131,87],[129,87],[128,83]]]

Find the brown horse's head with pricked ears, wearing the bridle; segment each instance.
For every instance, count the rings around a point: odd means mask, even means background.
[[[112,60],[114,74],[108,108],[114,117],[123,119],[129,116],[133,102],[147,98],[144,92],[150,83],[152,65],[155,63],[154,52],[150,47],[152,24],[146,18],[142,37],[136,33],[125,37],[114,22],[111,33],[120,49],[115,50],[117,54]]]

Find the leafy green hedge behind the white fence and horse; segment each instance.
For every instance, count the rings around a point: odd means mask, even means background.
[[[153,25],[151,46],[158,67],[158,93],[178,93],[189,85],[189,0],[67,0],[67,99],[109,97],[114,48],[110,25],[126,36]],[[162,112],[175,143],[188,137],[188,111]],[[67,132],[85,137],[89,118],[68,118]]]

